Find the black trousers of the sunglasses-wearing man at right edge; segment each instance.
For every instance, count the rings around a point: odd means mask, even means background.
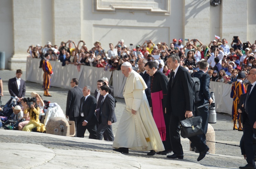
[[[243,114],[243,130],[244,130],[244,149],[246,154],[246,161],[248,164],[252,164],[255,167],[254,150],[253,150],[253,134],[256,136],[256,129],[253,128],[253,124],[250,124],[248,115]]]

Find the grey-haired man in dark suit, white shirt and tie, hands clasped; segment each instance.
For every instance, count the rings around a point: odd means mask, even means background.
[[[80,112],[79,119],[77,122],[77,137],[84,137],[86,129],[90,133],[89,138],[97,139],[96,135],[96,124],[98,120],[95,115],[95,109],[97,105],[96,98],[90,95],[91,88],[85,86],[83,88],[83,95],[80,99]]]

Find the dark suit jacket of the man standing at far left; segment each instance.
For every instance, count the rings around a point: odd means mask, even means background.
[[[26,82],[20,79],[20,88],[18,91],[16,77],[9,79],[8,81],[8,90],[11,96],[15,97],[25,97],[26,93]]]

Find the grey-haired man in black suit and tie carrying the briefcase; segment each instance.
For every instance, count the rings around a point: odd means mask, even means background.
[[[168,82],[166,112],[170,114],[170,138],[174,154],[167,158],[183,159],[179,121],[193,116],[193,91],[188,71],[180,66],[176,53],[167,57],[167,65],[173,70]],[[200,152],[197,161],[203,159],[209,150],[198,136],[188,138]]]

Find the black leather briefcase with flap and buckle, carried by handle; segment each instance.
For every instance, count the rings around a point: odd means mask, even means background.
[[[188,138],[203,134],[202,117],[191,117],[180,121],[181,137]]]

